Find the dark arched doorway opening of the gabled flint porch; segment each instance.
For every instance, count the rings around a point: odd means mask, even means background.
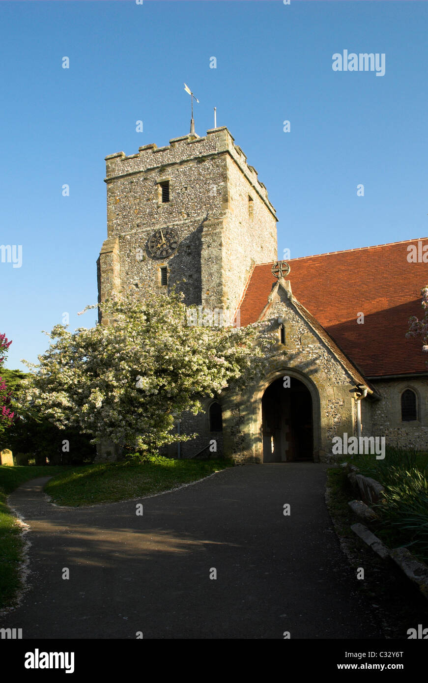
[[[313,461],[313,406],[309,389],[296,377],[280,377],[261,399],[263,462]]]

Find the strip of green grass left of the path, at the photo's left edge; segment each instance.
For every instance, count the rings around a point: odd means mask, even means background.
[[[0,465],[0,607],[12,604],[20,587],[18,566],[23,553],[20,527],[6,505],[6,498],[23,482],[59,471],[63,471],[63,467]]]

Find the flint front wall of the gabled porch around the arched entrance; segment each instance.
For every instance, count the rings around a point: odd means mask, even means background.
[[[279,340],[279,322],[285,326],[285,344]],[[272,328],[278,334],[276,354],[268,362],[263,376],[240,395],[225,400],[225,456],[237,462],[262,462],[261,398],[270,382],[285,376],[287,370],[300,380],[310,380],[313,397],[314,458],[323,458],[332,449],[332,436],[354,434],[354,398],[352,376],[334,357],[300,313],[284,298],[274,302],[268,312]],[[287,389],[284,389],[287,391]],[[240,408],[239,424],[236,406]]]

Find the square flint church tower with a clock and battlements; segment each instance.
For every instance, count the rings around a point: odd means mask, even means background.
[[[276,261],[276,213],[227,128],[106,156],[98,296],[142,285],[235,310],[255,263]]]

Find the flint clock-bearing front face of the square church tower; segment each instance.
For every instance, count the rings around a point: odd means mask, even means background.
[[[192,148],[195,154],[200,149]],[[181,155],[181,145],[179,151]],[[175,164],[171,153],[168,158],[169,167],[144,169],[108,183],[108,232],[119,238],[121,283],[125,291],[142,285],[160,287],[160,266],[167,265],[169,288],[180,283],[186,303],[200,305],[201,234],[208,219],[222,222],[225,158],[214,156],[208,161],[197,157],[180,163],[181,156],[177,156]],[[141,163],[148,163],[145,154]],[[162,203],[158,181],[165,178],[169,178],[170,201]],[[212,193],[212,186],[216,194]],[[180,235],[177,251],[165,260],[152,258],[147,249],[149,237],[162,227],[173,227]]]

